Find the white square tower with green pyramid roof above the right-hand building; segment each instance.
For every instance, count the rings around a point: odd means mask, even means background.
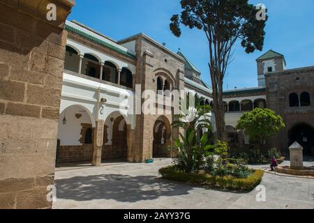
[[[258,86],[265,86],[265,74],[267,72],[278,72],[285,70],[285,56],[269,50],[256,59]]]

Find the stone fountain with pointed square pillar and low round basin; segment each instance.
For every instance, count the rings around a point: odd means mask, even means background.
[[[290,166],[276,167],[276,171],[281,174],[290,174],[297,176],[314,176],[314,169],[304,167],[303,164],[303,147],[294,141],[289,147],[290,151]]]

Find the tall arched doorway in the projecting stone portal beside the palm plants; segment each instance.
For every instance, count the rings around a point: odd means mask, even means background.
[[[171,126],[165,116],[157,118],[154,125],[153,157],[170,157]]]

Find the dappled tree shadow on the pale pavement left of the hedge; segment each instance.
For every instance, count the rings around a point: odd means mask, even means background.
[[[75,176],[55,180],[57,199],[91,201],[114,199],[121,202],[135,202],[157,199],[160,196],[188,194],[192,185],[182,185],[162,180],[156,176],[128,176],[101,174],[96,176]]]

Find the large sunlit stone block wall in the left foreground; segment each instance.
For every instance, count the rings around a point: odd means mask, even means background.
[[[48,22],[48,3],[57,21]],[[0,0],[0,209],[51,208],[66,45],[73,2]]]

